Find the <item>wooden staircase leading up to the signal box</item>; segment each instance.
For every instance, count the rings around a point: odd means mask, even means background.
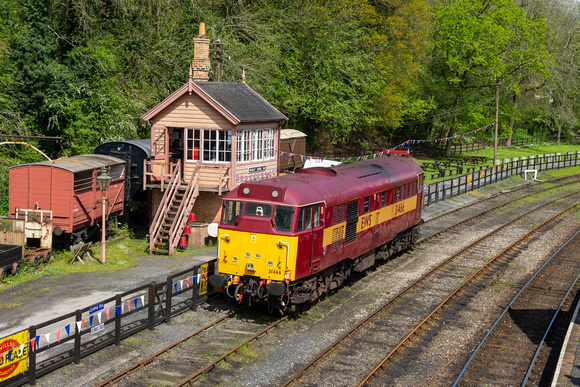
[[[181,163],[171,175],[157,213],[149,227],[149,252],[173,254],[179,245],[195,200],[199,196],[199,166],[187,185],[181,179]]]

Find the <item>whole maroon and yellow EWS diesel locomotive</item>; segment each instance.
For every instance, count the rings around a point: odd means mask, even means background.
[[[216,274],[238,302],[312,302],[418,238],[423,170],[382,157],[242,183],[225,198]]]

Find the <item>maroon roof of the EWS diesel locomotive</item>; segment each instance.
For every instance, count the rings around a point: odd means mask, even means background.
[[[242,183],[229,199],[247,199],[280,202],[288,205],[306,205],[324,201],[328,206],[353,198],[369,195],[417,178],[423,170],[413,160],[405,157],[381,157],[372,160],[341,164],[335,167],[316,167],[299,173],[257,182]],[[250,189],[244,195],[243,189]],[[272,197],[277,190],[279,196]]]

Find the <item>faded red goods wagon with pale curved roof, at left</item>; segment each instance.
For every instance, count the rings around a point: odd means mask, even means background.
[[[80,155],[17,165],[9,170],[10,218],[19,210],[52,211],[55,235],[77,232],[102,218],[102,197],[96,178],[106,169],[107,217],[123,214],[125,162],[104,155]]]

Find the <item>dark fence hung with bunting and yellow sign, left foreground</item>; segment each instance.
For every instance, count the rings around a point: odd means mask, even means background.
[[[27,342],[0,349],[2,359],[22,358],[28,370],[0,382],[0,386],[34,385],[36,378],[155,325],[170,322],[173,315],[195,310],[213,292],[208,292],[207,276],[215,260],[170,275],[164,282],[131,289],[92,306],[78,309],[19,332]],[[0,339],[0,343],[11,336]],[[24,356],[22,356],[24,355]]]

